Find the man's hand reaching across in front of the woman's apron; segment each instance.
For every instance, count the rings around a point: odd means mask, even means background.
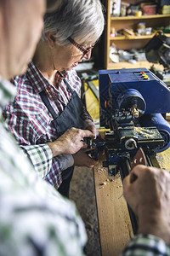
[[[94,134],[88,130],[71,128],[65,131],[65,133],[53,143],[48,143],[48,146],[51,148],[53,156],[58,154],[75,154],[80,148],[87,147],[87,144],[83,142],[84,137],[94,139]]]

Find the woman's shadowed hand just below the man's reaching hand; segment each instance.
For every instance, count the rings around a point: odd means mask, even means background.
[[[92,157],[88,156],[86,152],[88,152],[88,149],[81,149],[77,154],[73,154],[75,166],[87,166],[92,168],[98,164],[98,160],[94,160]]]

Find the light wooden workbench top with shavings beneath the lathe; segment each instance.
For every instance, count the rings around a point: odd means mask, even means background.
[[[102,256],[117,256],[133,237],[133,230],[122,195],[120,174],[109,177],[102,160],[104,157],[100,155],[99,165],[94,167],[101,252]],[[170,149],[157,154],[157,160],[161,168],[170,170]]]

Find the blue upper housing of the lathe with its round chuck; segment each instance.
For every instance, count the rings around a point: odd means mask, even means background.
[[[150,70],[100,70],[99,108],[100,126],[116,133],[127,126],[155,127],[164,140],[163,145],[155,145],[156,151],[169,148],[170,125],[161,113],[170,112],[170,90]]]

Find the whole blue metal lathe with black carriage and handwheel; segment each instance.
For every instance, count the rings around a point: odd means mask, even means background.
[[[160,167],[156,153],[170,147],[170,125],[163,113],[170,112],[170,90],[146,68],[99,71],[100,126],[110,128],[105,139],[94,141],[94,156],[105,150],[103,166],[109,175],[128,175],[139,148],[144,164]],[[137,162],[140,162],[141,158]],[[133,233],[137,220],[128,207]]]

